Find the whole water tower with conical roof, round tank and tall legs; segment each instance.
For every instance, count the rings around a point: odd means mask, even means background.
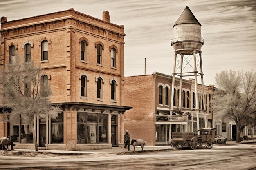
[[[173,93],[175,76],[179,78],[179,101],[178,110],[187,112],[181,105],[182,98],[182,77],[193,76],[195,79],[195,110],[191,111],[193,115],[197,117],[197,129],[199,130],[199,113],[204,114],[204,125],[207,127],[206,112],[205,112],[205,99],[204,99],[204,80],[202,69],[202,51],[201,47],[204,44],[204,40],[201,38],[201,24],[195,18],[195,15],[191,12],[188,6],[184,9],[178,20],[173,25],[173,39],[171,40],[171,46],[175,50],[174,67],[173,67],[173,81],[172,81],[172,93],[171,93],[171,106],[170,113],[173,113]],[[198,79],[201,77],[202,84],[202,104],[204,109],[198,108]],[[178,87],[177,86],[177,87]],[[201,91],[201,89],[200,89]],[[191,92],[192,96],[192,92]],[[191,97],[193,98],[193,97]],[[193,108],[193,107],[191,107]],[[175,108],[175,110],[177,110]],[[192,114],[191,114],[192,115]],[[193,116],[192,115],[192,116]]]

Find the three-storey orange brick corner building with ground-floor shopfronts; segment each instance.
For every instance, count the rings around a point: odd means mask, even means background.
[[[86,150],[123,143],[124,26],[74,9],[7,21],[1,18],[0,68],[15,56],[41,63],[42,76],[53,92],[57,119],[36,119],[42,149]],[[1,93],[1,96],[3,93]],[[17,148],[34,148],[31,129],[22,120],[0,116],[0,137]]]

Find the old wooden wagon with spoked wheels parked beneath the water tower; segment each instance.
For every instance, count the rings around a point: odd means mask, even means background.
[[[200,135],[194,132],[172,132],[171,146],[196,149],[197,146],[202,146],[205,143],[205,147],[211,149],[215,141],[215,130],[216,128],[200,129],[198,130]]]

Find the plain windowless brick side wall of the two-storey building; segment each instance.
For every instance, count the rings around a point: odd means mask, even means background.
[[[153,75],[124,78],[124,105],[133,107],[124,114],[124,130],[148,146],[155,145],[154,86]]]

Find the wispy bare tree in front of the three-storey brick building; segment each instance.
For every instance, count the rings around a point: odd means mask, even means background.
[[[0,71],[0,84],[4,90],[1,107],[11,108],[10,119],[18,117],[29,124],[35,150],[38,151],[33,127],[36,116],[46,118],[48,115],[56,118],[62,111],[58,106],[50,104],[52,91],[48,81],[44,81],[41,76],[40,65],[36,67],[32,61],[21,62],[21,58],[16,56],[15,64],[9,64]]]

